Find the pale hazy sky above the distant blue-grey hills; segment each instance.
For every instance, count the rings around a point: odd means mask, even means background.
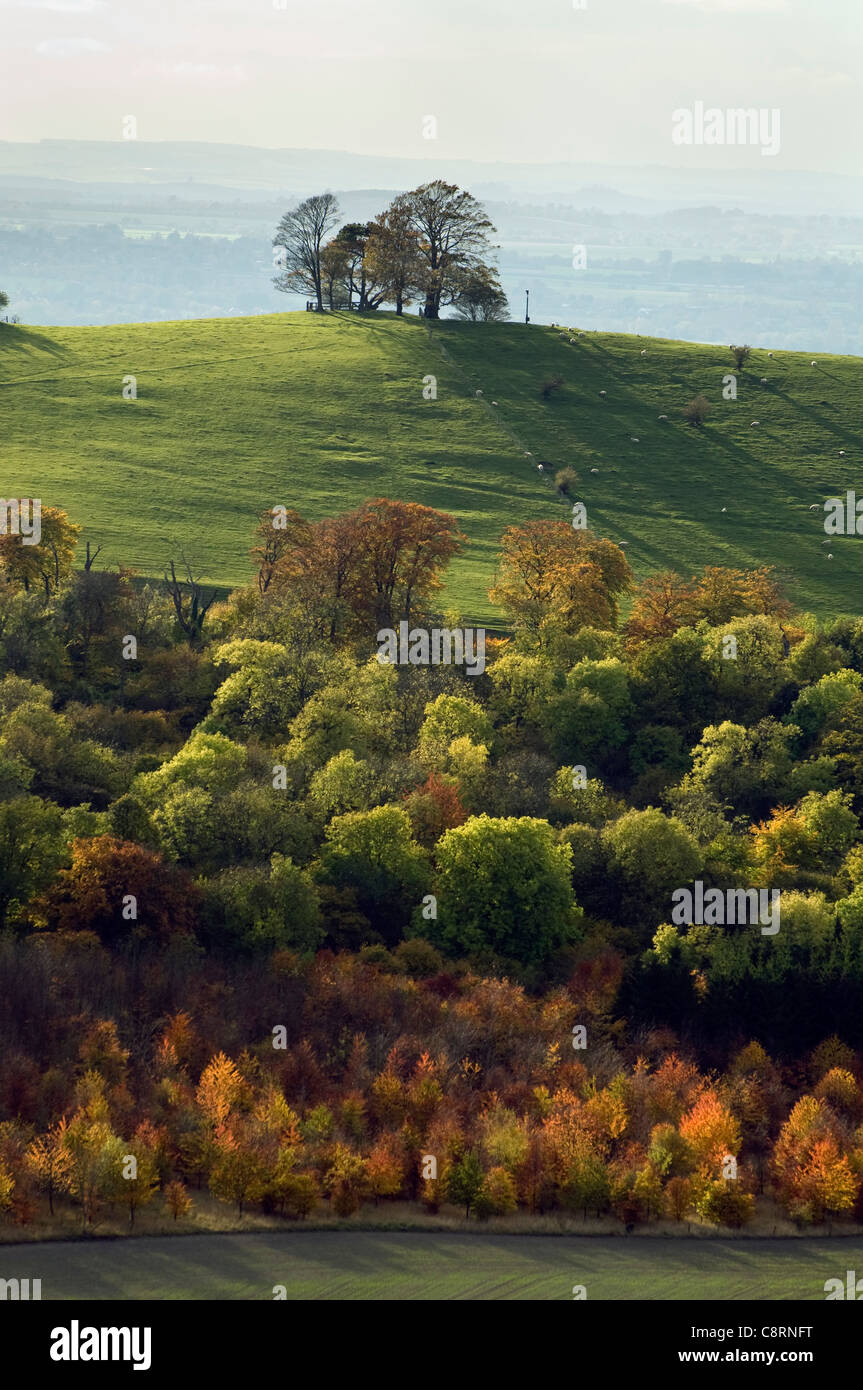
[[[863,172],[863,0],[281,4],[0,0],[0,139]],[[778,156],[673,145],[696,101],[778,108]]]

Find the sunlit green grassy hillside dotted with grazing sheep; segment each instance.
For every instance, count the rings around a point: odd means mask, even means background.
[[[863,364],[810,361],[753,352],[738,400],[724,402],[727,346],[570,342],[539,325],[304,313],[0,325],[3,495],[67,507],[106,563],[160,574],[183,549],[220,584],[249,577],[263,507],[320,517],[368,496],[422,502],[471,539],[453,602],[493,623],[499,535],[567,514],[536,463],[568,463],[589,524],[628,543],[636,573],[769,563],[803,606],[857,612],[863,538],[825,543],[820,505],[863,495]],[[422,398],[429,374],[436,400]],[[543,402],[554,374],[566,386]],[[126,375],[138,400],[122,399]],[[702,431],[681,414],[699,392],[713,404]]]

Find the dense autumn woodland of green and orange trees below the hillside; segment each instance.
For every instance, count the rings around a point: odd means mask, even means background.
[[[0,537],[0,1207],[855,1209],[862,620],[549,520],[468,676],[378,660],[460,623],[431,507],[265,512],[224,602],[79,541]],[[681,924],[696,880],[778,933]]]

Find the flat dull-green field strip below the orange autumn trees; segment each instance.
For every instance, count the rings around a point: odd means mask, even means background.
[[[823,1301],[859,1240],[591,1240],[290,1233],[0,1245],[0,1277],[43,1300]]]

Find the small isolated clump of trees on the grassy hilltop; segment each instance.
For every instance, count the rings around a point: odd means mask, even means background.
[[[318,310],[374,310],[420,300],[427,318],[453,306],[461,318],[509,318],[489,264],[495,231],[471,193],[435,179],[400,193],[371,222],[347,222],[335,236],[332,193],[307,197],[279,222],[274,239],[277,289],[311,295]]]

